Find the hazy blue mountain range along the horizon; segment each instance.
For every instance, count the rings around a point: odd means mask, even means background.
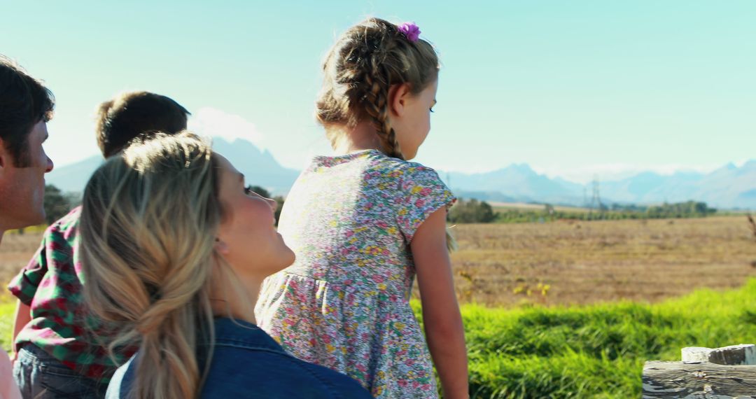
[[[213,138],[213,147],[246,175],[249,184],[265,187],[274,194],[287,193],[299,175],[299,171],[281,166],[268,150],[260,150],[243,139],[228,142]],[[101,156],[92,156],[54,169],[47,175],[48,184],[80,192],[102,162]],[[593,193],[593,186],[549,178],[525,163],[485,173],[439,171],[439,175],[458,196],[488,201],[582,206],[586,193],[589,197]],[[641,172],[630,178],[601,181],[599,192],[605,204],[676,203],[693,199],[716,208],[756,209],[756,160],[740,167],[730,163],[710,173]]]

